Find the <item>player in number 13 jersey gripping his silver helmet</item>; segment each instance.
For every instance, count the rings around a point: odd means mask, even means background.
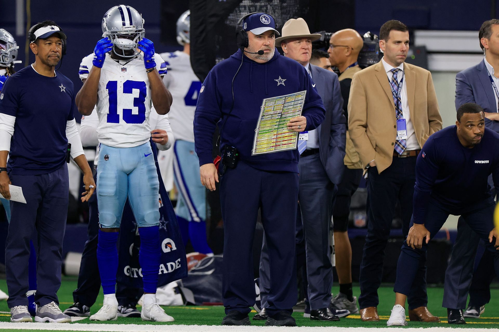
[[[153,42],[144,37],[144,20],[134,8],[121,4],[109,9],[102,20],[102,32],[104,38],[97,42],[94,53],[82,60],[80,75],[87,71],[88,77],[76,95],[80,113],[89,115],[97,106],[99,117],[97,261],[104,305],[90,320],[117,319],[116,241],[128,198],[141,241],[139,261],[144,284],[141,318],[173,322],[156,300],[160,259],[159,180],[149,144],[151,105],[158,114],[168,113],[172,105],[172,96],[161,78],[166,74],[166,64],[154,52]]]

